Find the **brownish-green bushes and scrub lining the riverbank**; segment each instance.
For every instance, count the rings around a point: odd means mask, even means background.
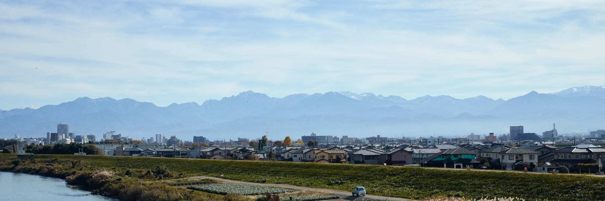
[[[14,155],[13,155],[14,156]],[[64,159],[16,159],[1,157],[0,171],[38,174],[65,179],[70,185],[77,185],[92,194],[113,197],[123,201],[177,201],[177,200],[249,200],[237,197],[201,193],[154,182],[160,178],[175,178],[175,174],[165,167],[147,171],[131,171],[111,168],[91,167],[84,161]],[[129,175],[128,175],[129,174]]]

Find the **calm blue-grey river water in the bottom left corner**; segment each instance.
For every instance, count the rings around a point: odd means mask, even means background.
[[[116,201],[117,199],[91,195],[89,191],[79,190],[77,187],[67,185],[63,179],[0,171],[0,200]]]

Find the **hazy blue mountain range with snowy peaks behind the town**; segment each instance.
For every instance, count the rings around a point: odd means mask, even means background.
[[[116,130],[133,138],[157,133],[191,140],[271,138],[312,132],[348,136],[465,136],[468,133],[507,133],[523,125],[526,132],[550,130],[587,132],[605,128],[605,86],[582,86],[551,94],[532,91],[509,100],[448,95],[406,100],[390,95],[353,92],[292,94],[283,98],[246,91],[201,105],[173,103],[166,107],[125,98],[88,97],[58,105],[2,110],[0,138],[45,136],[56,124],[70,124],[77,134]],[[99,136],[100,137],[100,136]]]

